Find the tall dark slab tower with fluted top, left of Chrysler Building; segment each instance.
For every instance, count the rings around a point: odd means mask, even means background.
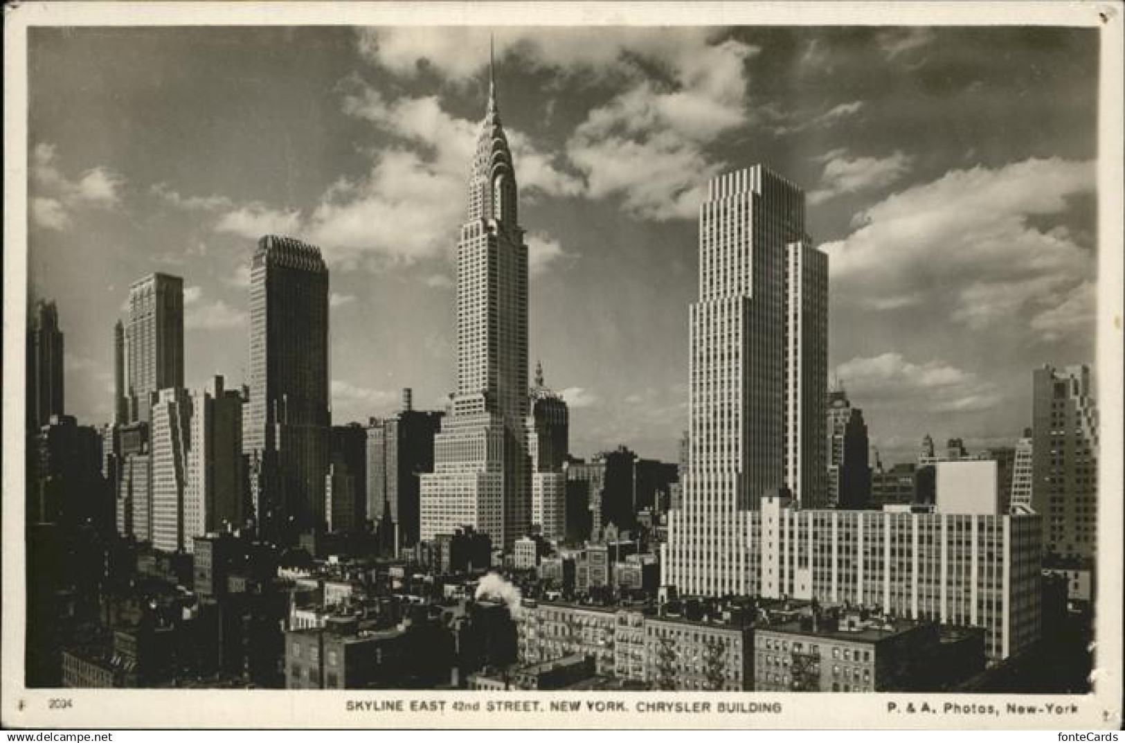
[[[318,248],[258,241],[250,269],[250,457],[254,516],[267,538],[322,529],[327,474],[328,269]]]

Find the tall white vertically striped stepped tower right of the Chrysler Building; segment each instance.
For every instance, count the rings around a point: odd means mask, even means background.
[[[664,582],[746,593],[749,513],[788,489],[825,502],[828,258],[804,229],[804,193],[762,165],[711,181],[700,207],[691,307],[688,463],[668,514]]]

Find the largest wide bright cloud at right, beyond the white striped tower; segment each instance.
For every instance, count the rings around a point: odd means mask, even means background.
[[[873,308],[925,304],[973,330],[1077,322],[1094,257],[1065,229],[1038,225],[1094,183],[1090,162],[1032,159],[888,196],[824,247],[834,293]]]

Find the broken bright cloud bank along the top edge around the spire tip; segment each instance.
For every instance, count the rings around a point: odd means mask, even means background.
[[[700,182],[724,167],[708,153],[708,145],[748,119],[746,61],[758,48],[716,38],[712,29],[702,28],[606,28],[595,34],[592,41],[588,29],[542,35],[531,28],[511,28],[496,39],[502,60],[512,56],[524,66],[580,80],[612,77],[623,88],[591,110],[566,143],[567,162],[582,173],[582,181],[556,167],[551,158],[521,152],[522,135],[514,133],[521,182],[538,182],[544,193],[555,195],[620,197],[626,212],[640,218],[695,216]],[[467,53],[474,48],[482,53]],[[487,63],[487,48],[486,29],[360,33],[361,52],[399,75],[429,69],[464,82]],[[641,63],[650,70],[642,71]],[[461,179],[464,162],[459,161]]]

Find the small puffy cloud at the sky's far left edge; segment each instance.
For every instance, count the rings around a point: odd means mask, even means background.
[[[76,179],[68,178],[58,164],[55,145],[47,143],[32,150],[30,176],[32,222],[46,230],[66,230],[74,209],[117,207],[125,183],[124,178],[101,165]]]

